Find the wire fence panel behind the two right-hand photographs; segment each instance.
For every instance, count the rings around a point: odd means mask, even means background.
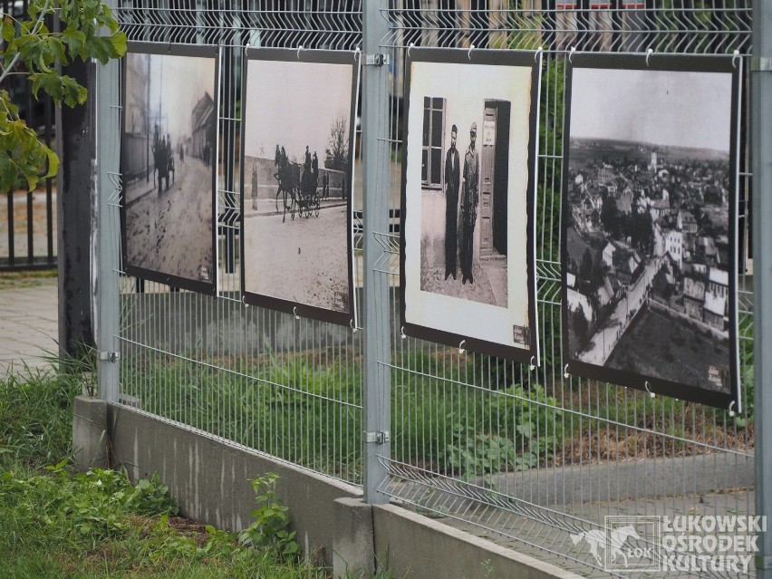
[[[591,576],[609,573],[586,545],[574,545],[571,535],[604,530],[604,516],[752,514],[746,80],[738,164],[742,413],[731,417],[726,410],[652,399],[646,392],[564,376],[560,314],[566,54],[572,48],[642,54],[652,48],[656,53],[737,53],[747,64],[749,3],[402,0],[383,17],[390,28],[383,46],[396,71],[390,133],[384,136],[394,159],[404,145],[401,111],[407,95],[401,72],[410,46],[541,49],[545,59],[536,214],[543,364],[531,372],[526,365],[460,353],[395,332],[391,360],[381,361],[391,365],[394,377],[391,478],[382,491],[451,525]],[[399,184],[395,163],[391,186]],[[391,259],[384,259],[384,265],[391,267],[392,284],[398,285],[399,244],[397,238],[393,241]],[[393,316],[399,320],[396,307]]]

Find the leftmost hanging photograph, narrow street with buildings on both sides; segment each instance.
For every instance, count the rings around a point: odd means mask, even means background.
[[[124,269],[214,294],[217,52],[132,43],[124,80]]]

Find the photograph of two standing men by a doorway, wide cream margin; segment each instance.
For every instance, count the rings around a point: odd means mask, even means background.
[[[401,212],[409,335],[538,358],[538,56],[410,51]]]

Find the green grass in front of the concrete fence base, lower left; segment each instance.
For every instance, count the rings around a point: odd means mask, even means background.
[[[288,560],[270,546],[247,547],[235,534],[177,516],[157,478],[132,487],[125,472],[72,472],[72,398],[80,393],[75,375],[0,379],[4,577],[328,576],[323,567]]]

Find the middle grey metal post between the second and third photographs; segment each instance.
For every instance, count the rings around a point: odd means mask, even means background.
[[[388,191],[390,151],[379,139],[388,127],[388,67],[380,58],[386,21],[386,0],[362,2],[362,177],[364,182],[364,500],[382,504],[389,497],[377,487],[388,476],[381,458],[390,457],[391,422],[389,285],[374,270],[383,255],[378,234],[389,231]]]

